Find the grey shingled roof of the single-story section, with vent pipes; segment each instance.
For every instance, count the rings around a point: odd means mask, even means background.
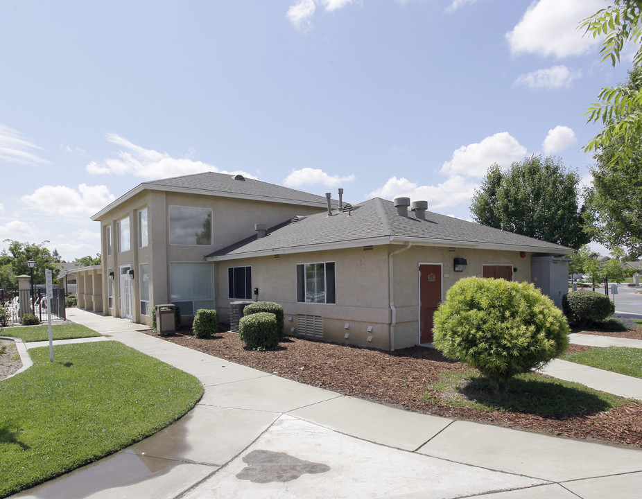
[[[317,213],[272,227],[265,237],[252,236],[207,255],[209,260],[318,251],[361,245],[416,243],[417,245],[513,249],[543,254],[571,254],[573,249],[492,229],[459,218],[426,211],[426,219],[400,216],[381,198],[357,204],[333,216]]]

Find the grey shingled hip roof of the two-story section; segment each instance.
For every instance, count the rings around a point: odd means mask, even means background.
[[[245,178],[243,175],[205,172],[143,182],[114,202],[108,204],[105,208],[101,209],[101,211],[98,211],[98,213],[92,216],[92,220],[100,220],[101,216],[107,213],[107,211],[110,211],[112,208],[146,189],[215,195],[222,198],[303,204],[311,207],[319,207],[320,209],[327,208],[327,199],[324,196],[297,191],[296,189],[289,189],[288,187],[275,184],[268,184],[268,182]],[[332,201],[332,206],[336,207],[337,202]]]

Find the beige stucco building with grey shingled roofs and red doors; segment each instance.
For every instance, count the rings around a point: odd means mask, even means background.
[[[184,322],[230,303],[276,301],[286,333],[393,350],[431,341],[432,314],[462,277],[532,281],[532,256],[572,249],[426,211],[427,203],[329,198],[202,173],[146,182],[96,213],[103,313]],[[562,270],[563,271],[563,270]]]

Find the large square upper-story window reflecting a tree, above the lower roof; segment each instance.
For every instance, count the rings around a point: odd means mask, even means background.
[[[169,243],[211,246],[211,209],[170,206]]]

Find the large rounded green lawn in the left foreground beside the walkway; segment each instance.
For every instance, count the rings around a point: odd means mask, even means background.
[[[105,341],[29,351],[0,381],[0,498],[134,444],[189,411],[197,378]]]

